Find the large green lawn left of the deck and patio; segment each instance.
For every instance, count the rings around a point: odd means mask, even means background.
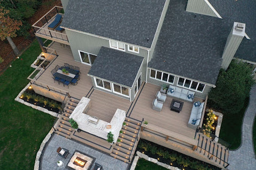
[[[37,41],[0,75],[0,169],[34,169],[36,153],[54,117],[14,98],[29,82],[30,64],[41,53]]]

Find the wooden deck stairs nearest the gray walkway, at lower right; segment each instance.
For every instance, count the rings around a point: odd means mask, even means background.
[[[198,134],[196,150],[201,156],[208,158],[214,165],[226,169],[228,164],[229,149],[213,141],[203,133]]]

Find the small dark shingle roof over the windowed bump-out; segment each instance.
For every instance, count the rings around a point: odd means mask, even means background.
[[[143,57],[101,47],[89,75],[132,87]]]

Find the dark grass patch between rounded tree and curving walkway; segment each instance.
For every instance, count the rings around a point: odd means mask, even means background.
[[[237,149],[241,145],[241,128],[244,112],[249,104],[249,97],[245,99],[244,107],[236,114],[223,113],[223,120],[220,128],[220,139],[230,143],[230,149]]]

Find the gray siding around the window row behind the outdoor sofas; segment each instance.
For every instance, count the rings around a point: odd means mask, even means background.
[[[188,79],[189,79],[189,78],[188,78]],[[179,80],[179,77],[175,76],[174,82],[173,82],[172,86],[177,86],[178,80]],[[156,79],[150,78],[150,69],[148,69],[148,83],[155,84],[155,85],[157,85],[157,86],[162,86],[163,84],[166,84],[167,86],[170,85],[170,83],[167,83],[167,82],[163,82],[163,81],[160,81],[160,80],[156,80]],[[178,87],[179,87],[179,86],[178,86]],[[182,88],[182,87],[179,87],[179,88]],[[197,92],[197,91],[195,91],[195,96],[196,96],[196,97],[199,97],[199,98],[205,99],[206,95],[209,94],[211,88],[212,88],[211,86],[207,86],[207,85],[205,84],[204,91],[203,91],[203,92]],[[194,91],[194,90],[191,90],[191,91]]]

